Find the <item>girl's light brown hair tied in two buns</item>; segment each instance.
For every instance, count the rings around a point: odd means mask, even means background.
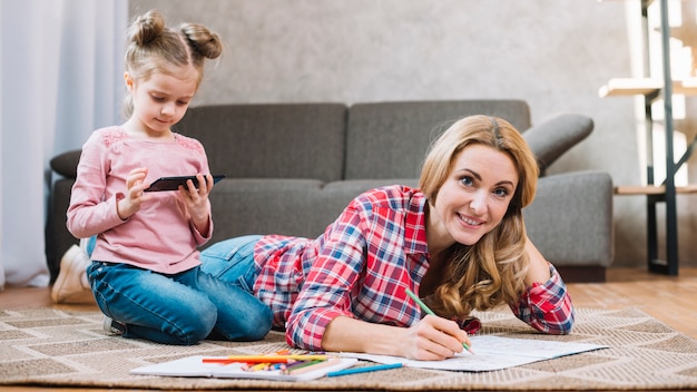
[[[171,75],[173,67],[192,65],[198,71],[196,87],[204,77],[205,59],[223,52],[220,37],[197,23],[183,23],[176,30],[165,27],[155,11],[136,17],[127,31],[126,70],[136,80],[147,81],[155,72]],[[132,112],[132,98],[126,97],[124,112]]]

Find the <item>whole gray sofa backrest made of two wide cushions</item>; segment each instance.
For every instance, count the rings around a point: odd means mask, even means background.
[[[212,171],[228,178],[418,178],[431,141],[455,120],[479,114],[521,131],[531,126],[523,100],[473,99],[199,106],[175,130],[203,143]],[[79,153],[56,157],[51,167],[75,178]]]

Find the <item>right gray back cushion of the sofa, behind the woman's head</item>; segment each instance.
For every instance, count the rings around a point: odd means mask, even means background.
[[[416,178],[431,145],[455,120],[501,117],[523,131],[523,100],[442,100],[355,104],[348,109],[345,179]]]

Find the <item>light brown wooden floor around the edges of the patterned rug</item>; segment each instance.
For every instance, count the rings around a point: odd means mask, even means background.
[[[679,276],[648,273],[641,268],[610,268],[606,283],[572,283],[569,293],[575,306],[592,308],[637,307],[674,330],[697,339],[697,268],[681,268]],[[0,292],[0,308],[55,306],[97,310],[96,305],[57,305],[49,288],[12,288]],[[3,386],[2,391],[38,392],[46,388]],[[108,391],[100,389],[53,389],[56,391]],[[129,390],[135,391],[135,390]]]

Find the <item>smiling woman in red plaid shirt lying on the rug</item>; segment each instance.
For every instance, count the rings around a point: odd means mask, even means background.
[[[419,189],[369,190],[316,239],[214,244],[202,270],[255,294],[287,343],[307,350],[443,360],[470,343],[461,324],[471,311],[499,304],[538,331],[566,334],[571,300],[523,223],[538,175],[508,121],[467,117],[431,146]],[[406,288],[438,316],[422,318]]]

